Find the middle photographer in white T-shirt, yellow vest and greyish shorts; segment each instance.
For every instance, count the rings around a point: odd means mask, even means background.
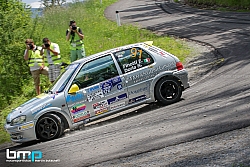
[[[48,38],[43,38],[40,55],[44,56],[45,65],[49,66],[49,80],[53,83],[61,72],[62,61],[59,45],[51,42]]]

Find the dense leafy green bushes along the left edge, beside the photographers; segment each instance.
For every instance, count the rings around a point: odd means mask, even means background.
[[[30,77],[23,54],[25,39],[37,33],[33,25],[30,9],[20,0],[0,1],[0,109],[22,93]]]

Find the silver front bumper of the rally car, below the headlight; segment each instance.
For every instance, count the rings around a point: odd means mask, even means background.
[[[10,134],[11,140],[13,142],[24,143],[37,139],[35,132],[35,123],[33,121],[14,126],[5,124],[4,128]]]

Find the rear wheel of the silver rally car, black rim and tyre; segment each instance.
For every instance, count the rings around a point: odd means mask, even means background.
[[[181,85],[172,78],[162,78],[155,86],[155,98],[163,105],[175,103],[182,95]]]

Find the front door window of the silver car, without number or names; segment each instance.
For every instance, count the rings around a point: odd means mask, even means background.
[[[83,89],[118,75],[111,55],[107,55],[83,65],[73,84],[77,84],[80,89]]]

